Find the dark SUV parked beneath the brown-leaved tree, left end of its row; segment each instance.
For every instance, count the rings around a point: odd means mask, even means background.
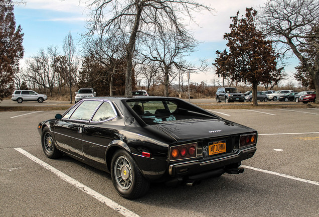
[[[244,94],[239,92],[235,87],[220,87],[216,92],[216,101],[232,102],[232,101],[245,101]]]

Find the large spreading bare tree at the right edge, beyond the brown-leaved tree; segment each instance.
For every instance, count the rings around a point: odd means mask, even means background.
[[[311,74],[316,91],[319,90],[319,1],[318,0],[268,0],[261,8],[260,23],[263,32],[283,49],[299,59],[301,65]],[[313,65],[304,47],[313,50]],[[319,98],[316,98],[319,103]]]

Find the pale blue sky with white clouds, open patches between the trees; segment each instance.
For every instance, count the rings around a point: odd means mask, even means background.
[[[21,25],[24,33],[24,59],[21,65],[24,65],[26,59],[37,54],[40,49],[46,49],[50,45],[59,47],[62,52],[63,39],[68,33],[76,39],[77,48],[80,50],[80,34],[85,33],[85,21],[89,13],[86,8],[86,0],[13,0],[15,9],[16,25]],[[209,65],[212,65],[217,57],[216,50],[224,50],[227,41],[223,39],[226,32],[229,32],[231,24],[230,17],[236,16],[237,11],[241,15],[245,14],[245,9],[253,7],[258,11],[266,0],[198,0],[197,2],[205,5],[211,5],[215,12],[196,14],[194,19],[199,27],[192,25],[194,36],[201,42],[196,52],[192,53],[188,60],[194,64],[199,59],[207,59]],[[285,73],[288,74],[287,80],[283,83],[294,81],[294,67],[297,66],[296,58],[289,59],[285,66]],[[211,67],[206,72],[192,74],[191,82],[200,83],[206,81],[207,84],[213,84],[212,80],[217,76],[214,68]]]

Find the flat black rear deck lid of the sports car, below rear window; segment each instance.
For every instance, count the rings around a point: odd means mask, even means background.
[[[199,120],[197,122],[170,123],[156,125],[159,129],[173,136],[177,141],[197,140],[231,134],[247,133],[250,128],[225,120]],[[251,129],[251,131],[253,131]]]

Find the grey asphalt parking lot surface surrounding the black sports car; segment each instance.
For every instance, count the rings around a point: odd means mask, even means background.
[[[1,216],[319,216],[319,109],[211,110],[258,131],[243,174],[122,198],[109,174],[47,158],[38,123],[63,111],[0,113]]]

